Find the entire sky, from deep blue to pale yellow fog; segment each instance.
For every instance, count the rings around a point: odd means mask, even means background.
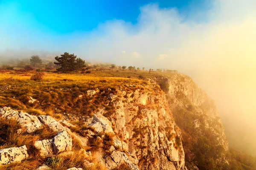
[[[256,155],[256,0],[0,0],[0,57],[74,53],[176,69],[215,99],[230,146]]]

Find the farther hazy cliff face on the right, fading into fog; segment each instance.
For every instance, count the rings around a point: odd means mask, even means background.
[[[225,159],[228,141],[215,102],[184,74],[161,76],[151,82],[156,82],[165,91],[169,111],[182,131],[186,166],[190,169],[197,169],[196,166],[209,168],[203,166],[207,161],[199,162],[201,156],[212,157],[216,167],[228,164]],[[196,148],[204,144],[209,147],[208,153]]]

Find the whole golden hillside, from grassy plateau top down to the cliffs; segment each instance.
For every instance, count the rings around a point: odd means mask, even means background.
[[[1,169],[255,167],[254,158],[228,151],[215,102],[184,74],[47,73],[41,82],[29,74],[0,75],[0,154],[24,153]]]

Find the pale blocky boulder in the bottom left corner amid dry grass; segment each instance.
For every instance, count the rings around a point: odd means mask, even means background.
[[[0,165],[21,162],[28,158],[26,145],[21,147],[10,147],[0,150]]]

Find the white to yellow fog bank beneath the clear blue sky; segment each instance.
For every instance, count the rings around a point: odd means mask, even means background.
[[[230,147],[256,156],[256,1],[209,2],[209,10],[189,17],[148,4],[140,8],[135,25],[110,20],[93,31],[68,35],[26,31],[26,22],[11,30],[5,24],[0,56],[67,51],[117,65],[178,70],[215,99]]]

